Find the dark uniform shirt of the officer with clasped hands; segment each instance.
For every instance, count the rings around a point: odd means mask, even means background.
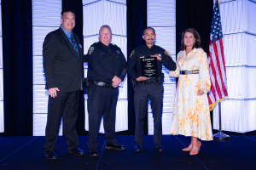
[[[114,76],[122,81],[126,74],[126,60],[121,49],[110,43],[95,42],[89,48],[88,78],[99,82],[112,82]]]

